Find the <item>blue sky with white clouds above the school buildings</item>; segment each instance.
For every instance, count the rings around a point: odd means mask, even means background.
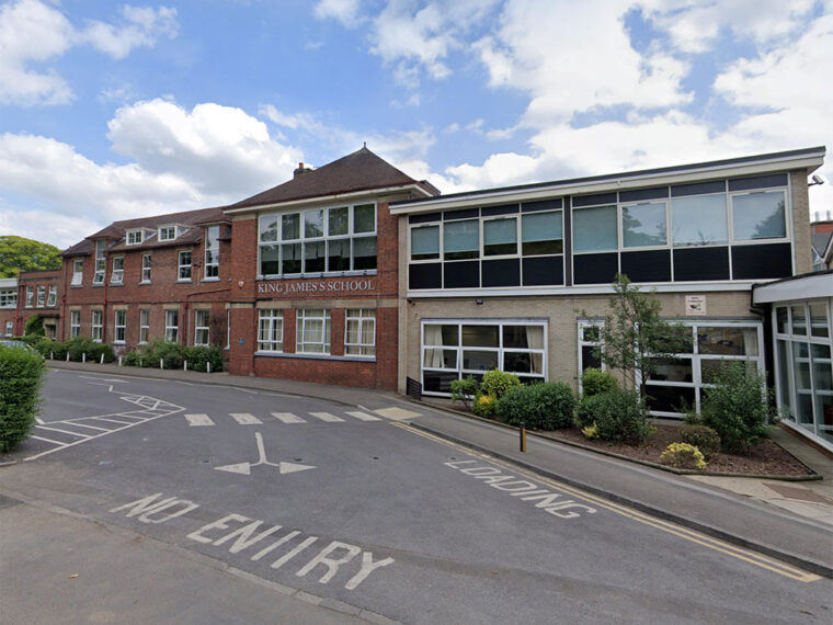
[[[67,247],[363,141],[444,193],[830,146],[832,76],[833,0],[4,1],[0,234]]]

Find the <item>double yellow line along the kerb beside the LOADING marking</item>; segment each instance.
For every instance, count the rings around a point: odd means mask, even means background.
[[[549,486],[551,488],[558,489],[561,492],[568,493],[571,497],[575,497],[578,499],[586,501],[587,503],[592,503],[593,505],[597,508],[604,508],[605,510],[609,510],[611,512],[615,512],[616,514],[619,514],[632,521],[637,521],[638,523],[642,523],[643,525],[649,525],[650,527],[654,527],[657,530],[660,530],[661,532],[665,532],[666,534],[671,534],[680,538],[683,538],[685,541],[688,541],[691,543],[695,543],[697,545],[701,545],[709,549],[714,549],[727,556],[731,556],[739,560],[746,561],[751,565],[764,568],[766,570],[773,571],[784,577],[787,577],[797,581],[806,582],[806,583],[822,579],[818,575],[803,571],[799,568],[792,567],[790,565],[787,565],[785,562],[781,562],[768,556],[764,556],[762,554],[757,554],[755,552],[744,549],[743,547],[738,547],[730,543],[726,543],[724,541],[712,538],[710,536],[701,534],[700,532],[695,532],[693,530],[688,530],[681,525],[676,525],[674,523],[670,523],[667,521],[663,521],[661,519],[650,516],[648,514],[634,510],[632,508],[627,508],[626,505],[614,503],[613,501],[608,501],[601,497],[596,497],[589,492],[584,492],[583,490],[579,490],[578,488],[574,488],[572,486],[561,484],[560,481],[557,481],[555,479],[544,477],[537,474],[533,474],[532,471],[528,471],[516,465],[512,465],[510,463],[503,462],[500,458],[495,458],[494,456],[491,456],[489,454],[472,451],[470,448],[464,447],[463,445],[458,445],[456,443],[453,443],[450,441],[447,441],[434,434],[430,434],[427,432],[418,430],[413,428],[412,425],[409,425],[408,423],[391,423],[391,425],[399,428],[400,430],[410,432],[412,434],[416,434],[424,439],[429,439],[431,441],[434,441],[435,443],[441,443],[445,446],[453,447],[457,450],[458,452],[461,452],[469,456],[481,458],[492,465],[497,465],[501,468],[510,470],[515,475],[523,476],[526,479],[534,480],[538,484]]]

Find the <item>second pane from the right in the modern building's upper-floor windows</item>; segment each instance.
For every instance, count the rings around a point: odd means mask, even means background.
[[[671,201],[672,239],[675,246],[705,246],[729,240],[726,195],[674,197]]]

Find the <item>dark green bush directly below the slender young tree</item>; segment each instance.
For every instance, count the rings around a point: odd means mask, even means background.
[[[598,438],[605,441],[636,444],[652,432],[639,393],[621,388],[582,397],[577,421],[582,428],[595,423]]]

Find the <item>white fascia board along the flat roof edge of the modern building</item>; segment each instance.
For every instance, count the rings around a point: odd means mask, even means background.
[[[644,175],[630,178],[627,173],[620,177],[611,177],[605,180],[579,182],[579,183],[555,183],[551,185],[537,186],[535,189],[509,189],[509,190],[490,190],[482,193],[472,193],[465,197],[438,196],[430,202],[419,202],[418,204],[391,206],[391,215],[408,215],[411,213],[433,212],[438,209],[465,208],[472,205],[482,204],[504,204],[514,202],[532,202],[535,200],[545,200],[554,195],[577,195],[586,193],[603,193],[609,191],[627,191],[629,189],[641,189],[644,186],[660,186],[665,184],[683,184],[688,182],[699,182],[703,180],[714,180],[715,178],[734,178],[742,175],[757,175],[772,172],[789,171],[797,169],[815,170],[824,162],[824,152],[818,152],[819,156],[800,155],[791,158],[774,158],[772,160],[758,160],[748,163],[737,163],[732,166],[705,166],[692,168],[691,170],[678,170],[673,172],[647,173]]]

